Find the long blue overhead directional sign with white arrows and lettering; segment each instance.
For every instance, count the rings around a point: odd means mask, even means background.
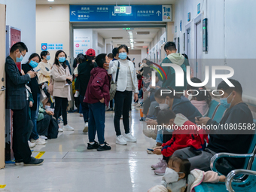
[[[172,5],[131,5],[131,8],[131,14],[115,14],[114,5],[70,5],[70,22],[172,21]]]

